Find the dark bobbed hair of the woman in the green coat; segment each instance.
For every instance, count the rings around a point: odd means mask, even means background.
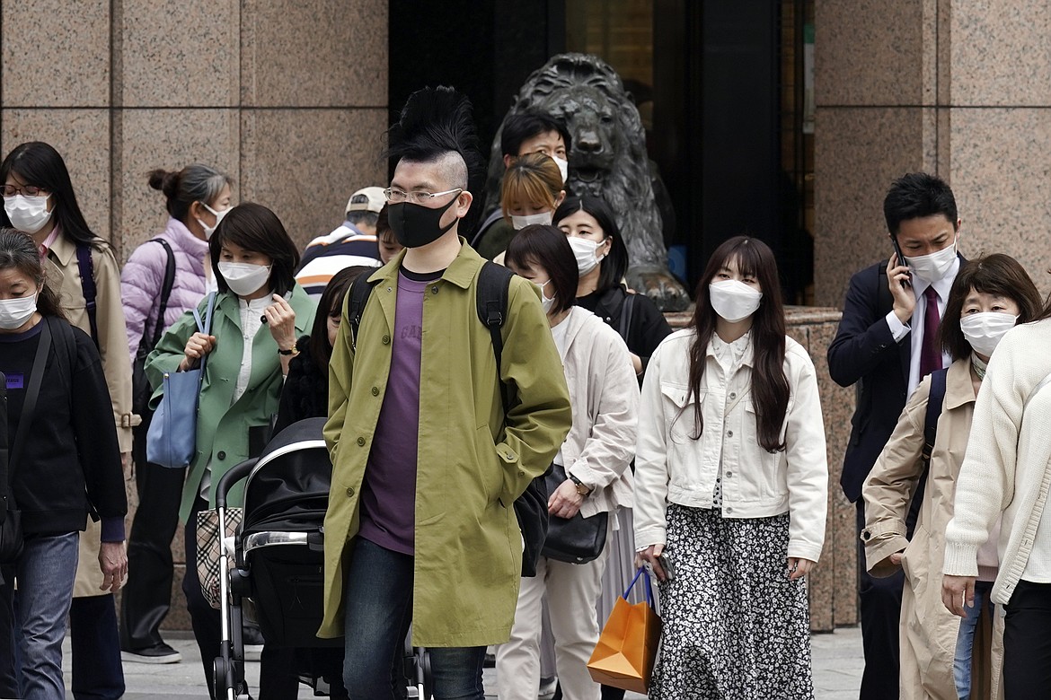
[[[253,201],[238,205],[223,217],[215,233],[208,239],[211,268],[215,271],[220,292],[230,289],[219,271],[220,253],[227,242],[263,253],[273,261],[269,283],[274,294],[284,295],[295,284],[293,271],[300,264],[300,251],[288,237],[277,215],[263,205]]]

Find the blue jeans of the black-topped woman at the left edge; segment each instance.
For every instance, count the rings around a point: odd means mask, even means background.
[[[19,628],[0,630],[13,636],[19,645],[15,655],[21,664],[21,688],[18,697],[34,700],[65,699],[62,679],[62,639],[65,620],[73,600],[73,584],[77,576],[78,542],[80,533],[60,535],[34,535],[25,538],[22,556],[15,563],[18,591],[12,581],[0,586],[0,606],[12,610],[14,595],[14,622]],[[5,619],[6,615],[2,616]]]

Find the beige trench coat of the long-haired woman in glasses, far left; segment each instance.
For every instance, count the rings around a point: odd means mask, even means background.
[[[124,327],[124,307],[121,305],[121,271],[112,249],[91,250],[95,271],[96,319],[99,326],[99,355],[106,375],[109,399],[117,423],[117,439],[121,452],[131,451],[131,360],[128,357],[127,331]],[[44,259],[46,284],[59,296],[59,306],[70,323],[90,335],[84,292],[77,267],[77,245],[59,234]],[[136,417],[138,418],[138,417]],[[74,597],[103,595],[102,570],[99,568],[101,526],[88,518],[87,529],[80,536],[80,563]]]

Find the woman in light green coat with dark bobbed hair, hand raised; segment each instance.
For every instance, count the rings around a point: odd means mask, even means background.
[[[257,453],[270,417],[277,412],[284,376],[295,339],[311,326],[314,302],[293,278],[300,261],[281,220],[266,207],[234,207],[209,240],[219,284],[210,334],[198,332],[191,313],[165,333],[146,361],[150,384],[164,373],[193,369],[208,356],[198,406],[197,455],[183,487],[180,517],[186,523],[186,560],[197,559],[197,513],[215,505],[213,486],[230,468]],[[204,317],[208,298],[200,304]],[[160,401],[160,389],[152,403]],[[230,493],[231,504],[241,501]],[[220,618],[201,593],[197,568],[183,579],[193,636],[205,679],[212,687],[211,660],[219,652]],[[264,655],[266,652],[264,651]],[[264,659],[264,663],[265,663]]]

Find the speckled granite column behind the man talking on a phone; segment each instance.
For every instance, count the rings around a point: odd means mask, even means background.
[[[816,27],[817,303],[842,307],[850,275],[889,256],[883,197],[893,178],[914,170],[952,186],[965,255],[1013,255],[1048,291],[1047,3],[817,0]],[[830,405],[823,395],[826,418],[845,421],[853,395],[834,396]],[[845,589],[837,624],[857,616],[847,594],[851,551],[834,550],[843,571],[837,587]]]

